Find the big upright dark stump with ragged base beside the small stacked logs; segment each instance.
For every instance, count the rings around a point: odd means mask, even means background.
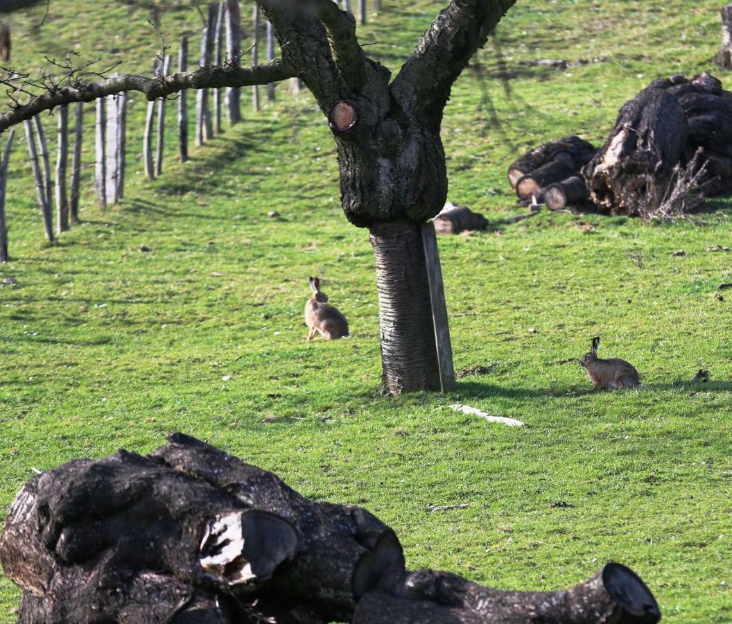
[[[687,142],[679,100],[643,89],[620,110],[608,141],[583,168],[595,206],[613,215],[653,212],[666,196]]]

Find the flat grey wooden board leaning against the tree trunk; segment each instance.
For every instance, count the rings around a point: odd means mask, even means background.
[[[427,281],[430,283],[430,302],[435,328],[437,362],[440,368],[440,385],[442,392],[445,393],[455,388],[455,368],[452,364],[452,343],[447,324],[447,304],[445,303],[445,287],[442,282],[440,254],[437,250],[437,237],[432,221],[422,224],[422,246],[425,249]]]

